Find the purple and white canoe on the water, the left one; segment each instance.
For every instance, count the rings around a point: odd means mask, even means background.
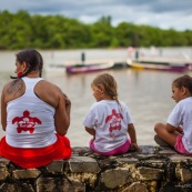
[[[111,69],[128,68],[127,62],[108,62],[108,63],[94,63],[94,64],[71,64],[65,67],[65,71],[69,74],[89,73],[95,71],[104,71]]]

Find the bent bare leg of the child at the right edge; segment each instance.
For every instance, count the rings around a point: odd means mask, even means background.
[[[176,143],[176,137],[180,133],[178,133],[176,131],[174,131],[174,132],[168,132],[168,130],[165,129],[165,124],[163,124],[163,123],[156,123],[154,125],[154,131],[160,137],[160,139],[162,139],[168,144],[170,144],[171,146],[174,148],[174,144]]]

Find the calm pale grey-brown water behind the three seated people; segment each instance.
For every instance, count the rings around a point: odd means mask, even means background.
[[[43,78],[58,84],[72,102],[71,124],[67,134],[72,146],[88,146],[88,142],[91,139],[84,131],[82,121],[91,104],[95,102],[90,82],[97,74],[101,73],[67,75],[65,69],[61,64],[80,62],[82,52],[85,52],[87,61],[125,60],[130,57],[125,49],[41,51],[44,59]],[[150,49],[145,49],[143,52],[145,57],[153,57],[154,54]],[[163,49],[161,58],[179,60],[183,59],[183,53],[185,53],[185,57],[191,57],[191,49]],[[159,55],[160,53],[156,52],[155,54]],[[13,74],[14,51],[0,52],[0,69],[1,91],[3,84],[10,80],[9,75]],[[124,101],[131,111],[138,143],[155,144],[153,141],[154,124],[156,122],[165,122],[174,107],[175,103],[171,99],[171,82],[181,73],[133,69],[110,70],[109,72],[117,79],[119,99]],[[191,74],[191,72],[189,73]],[[2,135],[4,135],[4,132],[0,128],[0,137]]]

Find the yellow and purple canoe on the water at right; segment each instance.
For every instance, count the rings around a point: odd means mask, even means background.
[[[129,63],[130,68],[137,70],[160,70],[160,71],[170,71],[170,72],[186,72],[192,69],[192,63],[148,63],[134,61]]]

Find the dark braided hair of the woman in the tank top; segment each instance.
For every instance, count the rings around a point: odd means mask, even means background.
[[[18,62],[27,63],[27,71],[19,78],[28,75],[31,71],[40,71],[40,77],[42,75],[43,59],[42,55],[36,49],[26,49],[16,54]],[[11,77],[17,79],[16,77]]]

